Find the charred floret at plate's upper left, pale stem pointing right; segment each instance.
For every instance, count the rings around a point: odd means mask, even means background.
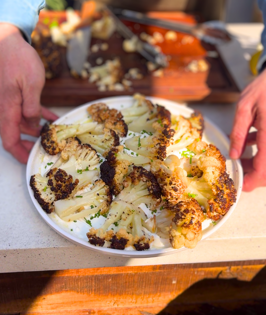
[[[93,130],[96,125],[97,122],[59,125],[47,122],[40,132],[41,145],[45,152],[50,155],[55,155],[65,147],[67,138],[75,137],[84,132],[89,132]]]

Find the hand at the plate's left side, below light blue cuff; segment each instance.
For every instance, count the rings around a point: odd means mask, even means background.
[[[57,116],[40,105],[45,82],[43,64],[37,52],[23,39],[20,30],[0,23],[0,135],[3,147],[26,163],[34,142],[20,134],[39,136],[41,116]]]

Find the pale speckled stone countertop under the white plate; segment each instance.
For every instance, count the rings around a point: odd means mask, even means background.
[[[262,27],[262,24],[228,25],[238,40],[231,50],[222,47],[220,51],[235,75],[238,74],[241,88],[253,78],[246,59],[255,51]],[[240,45],[238,59],[242,59],[242,63],[236,64],[234,47]],[[192,107],[230,133],[234,104],[194,104]],[[58,115],[71,109],[51,108]],[[83,248],[57,234],[44,222],[30,199],[26,166],[18,163],[2,146],[0,165],[0,272],[266,259],[266,200],[262,197],[265,187],[242,192],[230,218],[196,248],[153,258],[125,258]]]

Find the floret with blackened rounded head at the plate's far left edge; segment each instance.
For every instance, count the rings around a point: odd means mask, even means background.
[[[78,184],[78,179],[56,167],[50,169],[45,177],[39,173],[30,177],[30,187],[34,197],[47,213],[54,210],[54,201],[67,198]]]

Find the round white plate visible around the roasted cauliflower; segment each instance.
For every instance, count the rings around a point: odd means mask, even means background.
[[[192,109],[178,104],[174,101],[166,100],[163,98],[158,97],[148,97],[153,103],[157,103],[160,105],[165,106],[168,108],[171,113],[173,114],[181,114],[184,116],[190,116],[193,112]],[[106,103],[110,108],[116,108],[121,109],[121,105],[123,108],[129,107],[133,103],[132,96],[114,96],[114,97],[107,97],[107,98],[101,98],[89,103],[86,103],[84,105],[81,105],[74,110],[70,111],[69,113],[65,114],[64,116],[60,117],[55,121],[57,124],[67,124],[67,123],[74,123],[79,120],[83,120],[87,116],[86,108],[88,105],[93,104],[95,102],[104,102]],[[229,218],[229,216],[234,211],[237,202],[240,197],[241,189],[242,189],[242,183],[243,183],[243,171],[241,167],[241,163],[239,160],[231,160],[228,155],[229,151],[229,139],[224,134],[220,128],[215,126],[213,123],[211,123],[208,119],[205,118],[205,138],[208,142],[215,144],[221,151],[221,153],[226,157],[227,162],[227,171],[230,174],[230,177],[234,180],[235,187],[237,189],[237,201],[234,203],[234,205],[229,209],[229,211],[224,215],[216,225],[213,226],[213,224],[210,224],[207,228],[203,229],[203,236],[202,239],[205,239],[212,233],[214,233],[218,228],[220,228],[225,221]],[[34,203],[37,211],[42,216],[42,218],[45,220],[46,223],[48,223],[57,233],[62,235],[63,237],[67,238],[68,240],[74,242],[75,244],[82,245],[86,248],[101,251],[102,253],[106,253],[108,255],[117,255],[117,256],[123,256],[123,257],[155,257],[160,255],[166,255],[170,253],[175,253],[177,251],[181,251],[186,249],[186,247],[182,247],[180,249],[174,249],[171,247],[169,243],[169,247],[163,248],[163,249],[149,249],[144,251],[135,251],[135,250],[118,250],[118,249],[112,249],[112,248],[106,248],[106,247],[99,247],[91,245],[88,241],[84,239],[81,239],[77,237],[76,235],[73,235],[73,233],[70,231],[71,226],[65,225],[65,226],[58,226],[58,224],[55,222],[54,219],[52,219],[52,216],[47,214],[39,205],[37,200],[33,196],[33,191],[29,186],[29,179],[32,174],[35,174],[37,172],[40,172],[40,164],[41,160],[43,159],[44,150],[41,147],[40,144],[40,138],[36,141],[35,145],[33,146],[30,156],[27,163],[27,170],[26,170],[26,178],[28,183],[28,191],[30,194],[30,197],[32,199],[32,202]],[[53,157],[55,158],[55,157]],[[52,160],[51,157],[49,157],[49,161]]]

